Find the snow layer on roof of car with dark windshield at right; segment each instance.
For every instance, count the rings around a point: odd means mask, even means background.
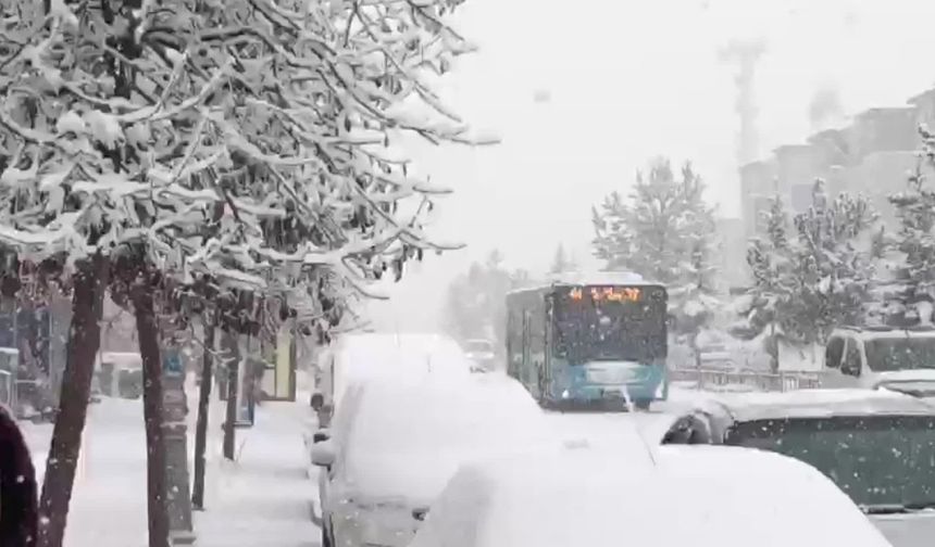
[[[834,416],[935,416],[923,399],[887,390],[796,390],[783,393],[725,394],[701,405],[734,421]],[[720,407],[720,408],[719,408]]]

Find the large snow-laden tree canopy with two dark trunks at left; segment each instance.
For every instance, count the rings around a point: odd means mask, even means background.
[[[82,349],[63,400],[84,405],[111,280],[148,326],[140,347],[158,384],[147,318],[177,287],[275,294],[327,327],[367,281],[452,247],[421,220],[447,190],[413,176],[397,148],[404,133],[476,142],[426,79],[473,49],[445,22],[460,3],[0,5],[0,244],[74,285],[84,316],[70,347]],[[409,199],[414,213],[398,206]],[[71,441],[49,458],[42,547],[61,545],[84,425],[83,406],[62,410],[73,418],[57,440]],[[151,546],[167,545],[166,525],[150,516]]]

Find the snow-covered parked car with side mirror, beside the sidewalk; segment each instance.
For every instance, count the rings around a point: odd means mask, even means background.
[[[499,374],[363,381],[314,443],[324,547],[406,545],[458,467],[554,444],[538,405]]]

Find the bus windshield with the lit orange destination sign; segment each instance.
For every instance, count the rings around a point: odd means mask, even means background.
[[[661,287],[560,289],[553,307],[556,355],[572,364],[649,364],[665,357],[665,315]]]

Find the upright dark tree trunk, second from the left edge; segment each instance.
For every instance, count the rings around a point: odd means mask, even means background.
[[[170,547],[169,511],[165,496],[166,450],[163,423],[162,359],[159,327],[152,302],[153,288],[138,283],[133,288],[133,307],[142,357],[142,416],[146,422],[146,486],[149,516],[149,547]]]

